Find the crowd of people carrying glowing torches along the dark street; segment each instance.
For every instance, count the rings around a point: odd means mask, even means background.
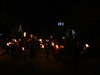
[[[6,43],[9,42],[9,39],[6,38]],[[52,45],[54,43],[54,45]],[[34,62],[35,55],[37,54],[37,49],[40,47],[39,41],[36,41],[36,39],[33,39],[33,35],[30,35],[30,39],[28,39],[26,42],[19,39],[17,42],[11,42],[11,44],[8,46],[6,44],[6,53],[9,54],[9,50],[11,50],[11,56],[14,57],[15,51],[19,52],[19,54],[22,54],[22,47],[24,47],[24,51],[29,50],[30,52],[30,61]],[[78,64],[81,62],[82,59],[87,59],[89,52],[88,48],[85,47],[84,43],[78,39],[76,40],[45,40],[45,51],[46,51],[46,59],[49,59],[49,50],[53,50],[53,54],[56,61],[62,61],[62,56],[70,55],[72,57],[72,62],[74,64],[74,67],[77,67]]]

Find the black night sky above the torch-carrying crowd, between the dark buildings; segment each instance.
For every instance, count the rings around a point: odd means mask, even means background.
[[[24,24],[36,30],[51,30],[57,19],[64,16],[64,2],[42,0],[14,0],[13,11],[19,13]]]

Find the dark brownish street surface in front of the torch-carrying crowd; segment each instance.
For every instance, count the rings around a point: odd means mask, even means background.
[[[74,70],[70,57],[63,57],[62,62],[56,62],[52,50],[50,50],[49,59],[46,60],[44,49],[38,49],[35,57],[34,67],[29,61],[29,51],[22,55],[15,53],[14,58],[11,54],[0,56],[1,75],[88,75],[81,68]],[[93,74],[93,73],[92,73]],[[90,73],[90,75],[92,75]]]

